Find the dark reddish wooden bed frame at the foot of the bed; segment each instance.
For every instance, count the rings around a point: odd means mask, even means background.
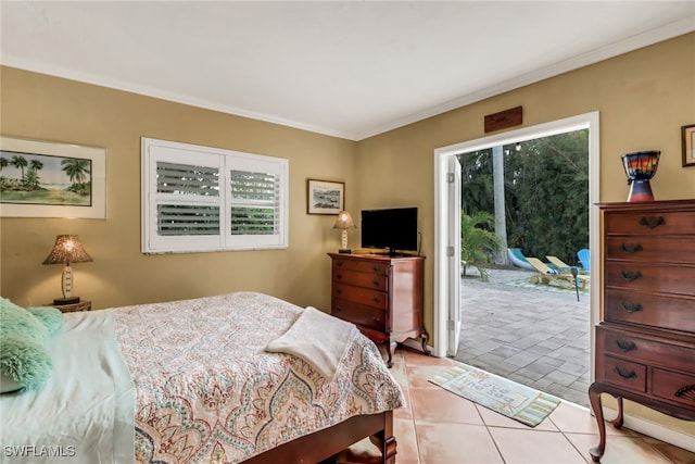
[[[396,441],[393,436],[393,411],[351,417],[332,427],[300,437],[244,461],[244,464],[328,464],[351,444],[376,436],[381,463],[395,464]]]

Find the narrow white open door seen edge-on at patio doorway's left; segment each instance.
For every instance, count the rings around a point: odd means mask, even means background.
[[[455,356],[460,334],[460,164],[456,155],[450,155],[446,179],[448,298],[446,355]]]

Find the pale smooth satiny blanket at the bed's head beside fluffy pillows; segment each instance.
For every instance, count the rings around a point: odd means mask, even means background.
[[[50,348],[40,390],[0,396],[0,462],[132,463],[135,390],[113,312],[66,314]]]

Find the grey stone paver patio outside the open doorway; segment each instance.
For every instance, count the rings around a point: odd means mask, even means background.
[[[589,293],[580,293],[577,302],[573,292],[504,284],[531,275],[491,269],[489,283],[462,277],[462,331],[455,358],[589,406]]]

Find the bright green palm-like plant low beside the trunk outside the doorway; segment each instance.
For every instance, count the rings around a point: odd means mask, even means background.
[[[488,280],[485,264],[491,262],[491,255],[502,247],[502,240],[494,233],[495,217],[484,211],[472,216],[462,211],[460,214],[460,260],[463,275],[469,266],[480,272],[482,280]]]

